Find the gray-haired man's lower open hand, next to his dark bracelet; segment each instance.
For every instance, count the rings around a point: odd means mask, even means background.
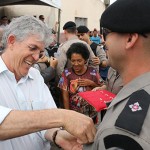
[[[55,142],[64,150],[82,150],[83,148],[83,145],[66,130],[58,131]]]

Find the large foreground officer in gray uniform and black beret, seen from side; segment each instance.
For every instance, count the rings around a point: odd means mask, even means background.
[[[150,149],[150,0],[117,0],[100,25],[108,61],[124,87],[85,150]]]

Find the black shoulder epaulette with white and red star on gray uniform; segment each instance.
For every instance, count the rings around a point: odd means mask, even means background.
[[[150,95],[145,90],[134,92],[123,111],[116,120],[115,126],[139,135],[150,104]]]

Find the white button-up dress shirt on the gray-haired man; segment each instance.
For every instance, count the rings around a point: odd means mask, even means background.
[[[0,57],[0,124],[11,110],[41,110],[56,108],[48,87],[37,69],[16,81]],[[45,131],[0,141],[0,150],[50,150]]]

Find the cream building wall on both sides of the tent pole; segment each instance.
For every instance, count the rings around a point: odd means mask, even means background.
[[[60,20],[60,42],[64,42],[63,25],[67,21],[75,21],[75,17],[87,18],[87,27],[90,30],[99,30],[99,19],[105,10],[105,5],[101,0],[61,0],[61,20]],[[58,9],[48,6],[38,5],[16,5],[0,8],[0,15],[7,15],[8,18],[21,15],[44,15],[45,22],[52,28],[58,20]]]

